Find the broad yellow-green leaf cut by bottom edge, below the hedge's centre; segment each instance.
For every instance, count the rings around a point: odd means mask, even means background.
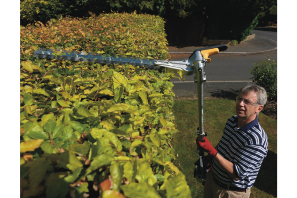
[[[130,183],[122,185],[125,197],[129,198],[161,198],[157,190],[148,183]]]

